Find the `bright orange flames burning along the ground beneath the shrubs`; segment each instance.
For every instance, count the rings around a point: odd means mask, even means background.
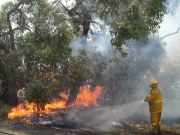
[[[102,86],[96,86],[93,92],[91,92],[89,87],[81,86],[80,92],[77,95],[76,102],[74,104],[82,107],[88,107],[92,105],[98,107],[99,104],[97,99],[101,95],[103,89],[104,87]],[[69,97],[69,90],[61,92],[60,97],[61,100],[54,100],[53,102],[46,104],[43,110],[40,109],[37,104],[25,101],[24,104],[21,103],[17,107],[12,108],[11,112],[8,114],[8,118],[15,119],[23,116],[31,116],[33,114],[38,114],[39,116],[44,114],[55,114],[57,113],[57,109],[67,109],[73,106],[66,105]],[[27,124],[32,124],[30,121],[23,120],[23,122],[24,121]]]

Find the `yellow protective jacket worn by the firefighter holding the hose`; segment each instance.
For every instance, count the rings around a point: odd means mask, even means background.
[[[163,95],[162,92],[157,89],[152,89],[149,95],[146,97],[147,102],[149,103],[150,113],[161,113],[163,105]]]

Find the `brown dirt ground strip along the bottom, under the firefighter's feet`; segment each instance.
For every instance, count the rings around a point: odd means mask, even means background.
[[[87,131],[43,125],[28,125],[18,121],[0,119],[0,135],[151,135],[147,122],[124,120],[121,126],[115,126],[112,131]],[[164,125],[162,135],[180,135],[180,126]]]

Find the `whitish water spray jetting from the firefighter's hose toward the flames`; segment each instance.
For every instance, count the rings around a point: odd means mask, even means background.
[[[78,122],[83,127],[93,131],[109,131],[113,129],[114,123],[118,123],[132,116],[143,105],[143,101],[136,101],[125,105],[100,107],[96,109],[74,108],[68,119]],[[121,126],[119,124],[118,126]]]

